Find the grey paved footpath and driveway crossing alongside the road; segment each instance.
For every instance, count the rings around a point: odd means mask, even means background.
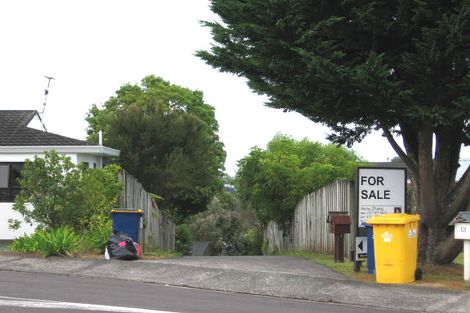
[[[358,282],[297,257],[106,261],[4,253],[0,254],[0,270],[122,279],[414,312],[470,312],[469,292]]]

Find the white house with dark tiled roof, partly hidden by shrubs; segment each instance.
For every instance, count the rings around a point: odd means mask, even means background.
[[[84,163],[92,168],[101,168],[120,153],[103,145],[93,145],[30,126],[38,120],[37,111],[0,110],[0,241],[12,240],[34,231],[34,227],[27,223],[22,223],[18,230],[8,227],[8,219],[21,220],[12,206],[20,190],[16,179],[25,160],[55,150],[70,157],[75,164]]]

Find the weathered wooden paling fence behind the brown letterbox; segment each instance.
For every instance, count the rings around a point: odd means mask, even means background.
[[[353,182],[345,180],[337,180],[305,196],[297,204],[292,226],[288,231],[283,231],[274,222],[268,224],[264,232],[268,252],[293,249],[332,254],[334,235],[329,233],[326,223],[328,212],[348,212],[352,222],[355,221],[353,199]],[[355,234],[345,235],[345,256],[349,256],[354,237]]]

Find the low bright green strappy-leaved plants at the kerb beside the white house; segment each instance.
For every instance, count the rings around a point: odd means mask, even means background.
[[[54,230],[38,230],[31,236],[15,239],[9,249],[16,252],[39,253],[43,257],[51,255],[71,256],[81,244],[81,236],[65,226]]]

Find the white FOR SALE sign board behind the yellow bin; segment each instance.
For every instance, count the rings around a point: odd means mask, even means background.
[[[406,206],[406,169],[360,167],[358,185],[358,227],[387,213],[404,213]]]

